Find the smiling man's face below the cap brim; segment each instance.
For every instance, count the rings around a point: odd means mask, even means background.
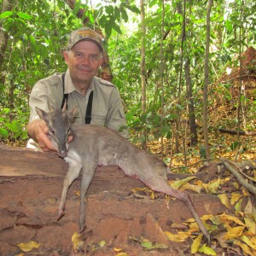
[[[90,41],[81,41],[64,53],[73,83],[79,87],[90,84],[102,65],[102,53],[99,47]]]

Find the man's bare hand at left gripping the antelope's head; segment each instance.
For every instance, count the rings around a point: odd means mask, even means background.
[[[36,119],[27,125],[27,134],[35,142],[38,143],[39,147],[43,151],[56,151],[48,137],[48,126],[45,124],[44,120]]]

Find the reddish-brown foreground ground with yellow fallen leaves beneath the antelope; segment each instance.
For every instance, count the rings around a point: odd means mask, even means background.
[[[195,241],[203,252],[247,255],[243,247],[230,245],[229,236],[240,241],[253,231],[244,219],[254,214],[256,201],[222,163],[193,177],[168,175],[177,179],[176,188],[189,192],[207,225],[212,236],[207,247],[183,202],[154,193],[117,166],[96,169],[87,194],[86,229],[79,233],[80,178],[68,191],[66,214],[56,220],[67,163],[54,153],[4,145],[0,154],[0,255],[191,255]],[[253,170],[249,166],[247,175]]]

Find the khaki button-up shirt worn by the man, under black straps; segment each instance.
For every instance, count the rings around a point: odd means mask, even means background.
[[[105,81],[94,77],[90,82],[90,87],[83,96],[75,89],[73,81],[70,77],[69,70],[65,75],[65,94],[68,94],[67,106],[69,110],[78,107],[77,114],[74,117],[74,123],[83,125],[86,114],[87,103],[90,96],[90,91],[93,90],[93,101],[91,109],[92,125],[102,125],[114,131],[119,131],[119,128],[126,126],[124,108],[122,106],[121,98],[117,88]],[[29,106],[31,108],[30,119],[39,119],[35,107],[41,108],[49,112],[48,101],[54,108],[61,108],[63,100],[63,84],[61,73],[55,73],[46,79],[39,80],[34,87],[29,99]],[[127,129],[119,132],[123,137],[128,138],[129,133]],[[38,144],[30,139],[27,143],[27,148],[38,148]]]

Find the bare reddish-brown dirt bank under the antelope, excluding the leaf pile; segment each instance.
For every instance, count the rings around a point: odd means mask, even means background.
[[[0,255],[78,255],[72,236],[79,232],[79,183],[67,195],[66,214],[56,220],[67,164],[53,153],[0,145]],[[98,167],[87,194],[86,229],[79,255],[189,255],[191,241],[173,243],[164,231],[191,218],[181,201],[151,200],[131,189],[143,183],[125,177],[117,166]],[[217,196],[191,194],[199,215],[224,212]],[[173,230],[172,230],[173,231]],[[143,250],[140,239],[168,245]],[[21,254],[19,243],[36,241],[38,249]],[[99,242],[104,241],[104,246]]]

